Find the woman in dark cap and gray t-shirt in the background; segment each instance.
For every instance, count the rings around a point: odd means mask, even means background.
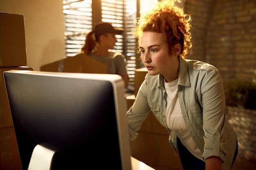
[[[123,29],[113,27],[110,23],[101,22],[87,33],[81,53],[88,55],[108,66],[108,74],[118,74],[128,86],[126,58],[122,53],[111,52],[117,42],[116,35]]]

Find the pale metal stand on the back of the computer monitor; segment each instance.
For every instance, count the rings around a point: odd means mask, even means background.
[[[28,170],[52,170],[55,152],[41,145],[36,145],[32,152]]]

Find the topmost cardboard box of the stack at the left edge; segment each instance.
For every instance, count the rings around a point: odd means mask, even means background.
[[[24,16],[0,13],[0,67],[27,66]]]

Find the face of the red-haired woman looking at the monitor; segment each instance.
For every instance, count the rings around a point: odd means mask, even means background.
[[[144,32],[140,40],[141,60],[150,75],[162,74],[165,79],[177,78],[179,68],[180,44],[175,45],[175,51],[168,53],[168,44],[162,33]]]

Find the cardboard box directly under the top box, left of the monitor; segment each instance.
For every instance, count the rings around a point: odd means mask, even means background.
[[[9,101],[7,97],[7,92],[4,84],[4,71],[9,70],[30,70],[34,69],[27,66],[20,67],[0,67],[0,128],[11,127],[13,126],[11,118],[11,110],[9,107]]]

